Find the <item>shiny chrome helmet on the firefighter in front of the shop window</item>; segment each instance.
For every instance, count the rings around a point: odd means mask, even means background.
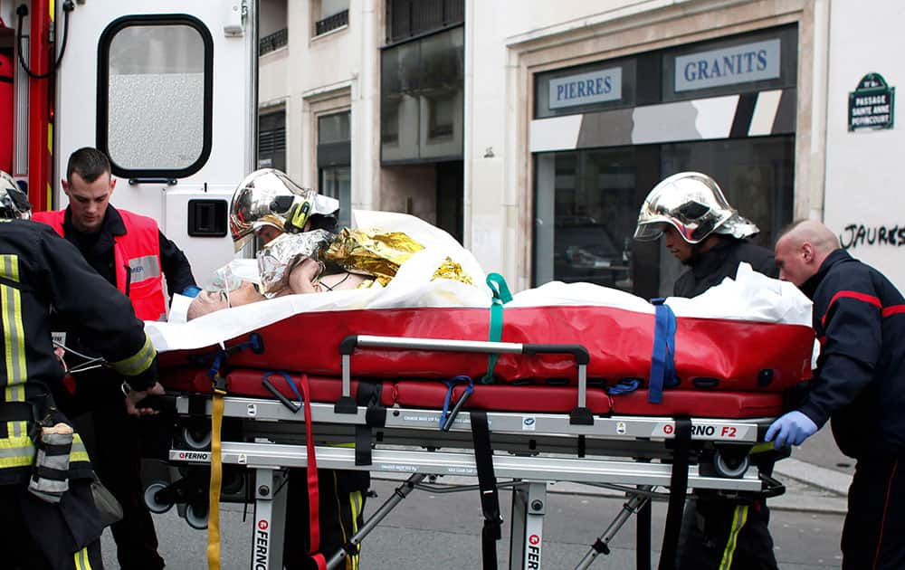
[[[700,172],[681,172],[653,187],[638,214],[634,239],[656,240],[667,223],[691,244],[702,242],[711,233],[742,239],[760,232],[729,205],[713,178]]]

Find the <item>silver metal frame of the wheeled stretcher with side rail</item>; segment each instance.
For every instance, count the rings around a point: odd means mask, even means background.
[[[469,410],[457,410],[452,421],[447,422],[447,432],[438,429],[442,411],[412,407],[384,408],[382,425],[374,427],[374,411],[355,404],[351,399],[351,356],[356,347],[565,353],[576,358],[576,408],[571,413],[486,413],[491,444],[496,451],[493,454],[493,470],[497,478],[510,480],[498,486],[513,488],[510,569],[543,567],[543,516],[548,482],[603,486],[624,491],[628,497],[623,510],[577,566],[580,568],[590,565],[599,554],[608,552],[606,545],[609,540],[649,499],[667,497],[656,489],[666,489],[671,485],[672,464],[668,461],[678,428],[677,419],[589,413],[585,407],[586,352],[582,352],[582,347],[349,337],[340,347],[343,397],[336,404],[310,403],[318,467],[405,473],[409,478],[366,520],[365,525],[350,539],[347,548],[357,546],[409,493],[423,487],[425,478],[443,475],[475,477],[478,474],[472,440],[468,437],[472,429],[472,413]],[[199,395],[177,395],[177,417],[195,424],[205,418],[209,422],[212,400],[209,396],[201,397],[207,400],[199,409]],[[304,432],[304,415],[278,400],[226,395],[223,401],[224,421],[229,419],[241,423],[245,440],[221,443],[223,464],[254,474],[250,567],[254,570],[281,568],[286,495],[276,491],[287,484],[288,469],[308,466],[304,443],[292,441]],[[530,419],[529,427],[526,418]],[[698,429],[691,433],[691,444],[698,451],[706,450],[702,457],[712,452],[713,463],[710,465],[702,461],[690,464],[688,487],[712,489],[742,499],[781,494],[784,491],[782,485],[760,473],[757,465],[748,461],[748,452],[762,441],[762,435],[773,419],[692,418],[692,425],[698,426]],[[289,429],[286,429],[287,426]],[[370,426],[374,435],[369,464],[360,464],[360,458],[357,461],[355,449],[335,446],[339,442],[348,442],[353,437],[350,430],[361,426]],[[733,436],[727,438],[728,433]],[[290,442],[286,442],[287,438]],[[169,461],[176,465],[210,463],[210,451],[201,449],[199,443],[203,445],[205,442],[184,437],[182,443],[174,444],[169,451]],[[656,460],[666,461],[653,462]],[[435,489],[432,490],[435,492]],[[249,498],[250,494],[246,494],[246,499]],[[333,553],[328,559],[329,567],[338,567],[345,556],[345,550]]]

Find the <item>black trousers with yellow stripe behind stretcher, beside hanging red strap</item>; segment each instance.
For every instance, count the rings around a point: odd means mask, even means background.
[[[365,495],[370,484],[367,471],[318,470],[320,553],[327,560],[348,542],[364,522]],[[286,502],[283,538],[286,570],[317,570],[309,556],[308,471],[292,469]],[[358,556],[348,556],[346,570],[357,570]]]

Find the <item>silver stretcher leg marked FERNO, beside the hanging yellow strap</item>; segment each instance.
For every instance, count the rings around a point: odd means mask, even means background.
[[[252,570],[282,568],[286,478],[285,470],[255,469]]]

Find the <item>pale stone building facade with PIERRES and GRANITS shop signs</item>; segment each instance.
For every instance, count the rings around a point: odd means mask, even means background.
[[[355,208],[419,215],[516,289],[668,293],[681,266],[632,233],[643,197],[683,170],[713,176],[757,242],[821,219],[905,286],[896,0],[261,10],[262,165],[283,160]]]

